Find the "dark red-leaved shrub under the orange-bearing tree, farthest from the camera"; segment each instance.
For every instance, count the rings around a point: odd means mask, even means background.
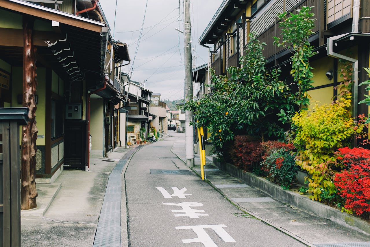
[[[252,164],[261,159],[260,139],[257,136],[236,135],[229,151],[234,165],[244,170],[251,170]]]

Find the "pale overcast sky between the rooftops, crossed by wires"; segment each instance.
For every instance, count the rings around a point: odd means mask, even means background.
[[[162,101],[183,99],[184,34],[175,30],[184,30],[183,0],[100,0],[99,3],[114,39],[128,45],[131,62],[123,67],[123,72],[134,81],[146,80],[145,88],[161,93]],[[208,49],[200,46],[198,39],[221,3],[222,0],[190,2],[193,67],[208,63]]]

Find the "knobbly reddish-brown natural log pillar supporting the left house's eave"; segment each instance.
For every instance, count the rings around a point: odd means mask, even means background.
[[[21,144],[21,209],[36,208],[36,47],[33,46],[32,32],[34,19],[23,16],[23,106],[29,109],[28,124],[22,128]]]

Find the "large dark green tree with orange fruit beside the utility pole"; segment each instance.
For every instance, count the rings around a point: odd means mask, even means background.
[[[280,70],[266,71],[262,55],[265,43],[250,34],[242,68],[229,67],[228,75],[210,70],[213,94],[189,100],[184,108],[194,111],[196,126],[206,126],[213,133],[216,152],[223,152],[235,135],[282,136],[283,128],[272,118],[280,109],[291,109],[287,102],[289,88],[279,80]],[[221,132],[220,132],[221,130]]]

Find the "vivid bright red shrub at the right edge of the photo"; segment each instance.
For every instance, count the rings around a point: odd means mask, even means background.
[[[339,148],[337,161],[347,167],[335,174],[337,193],[345,200],[344,208],[357,215],[370,212],[370,150]],[[365,216],[365,215],[363,215]]]

